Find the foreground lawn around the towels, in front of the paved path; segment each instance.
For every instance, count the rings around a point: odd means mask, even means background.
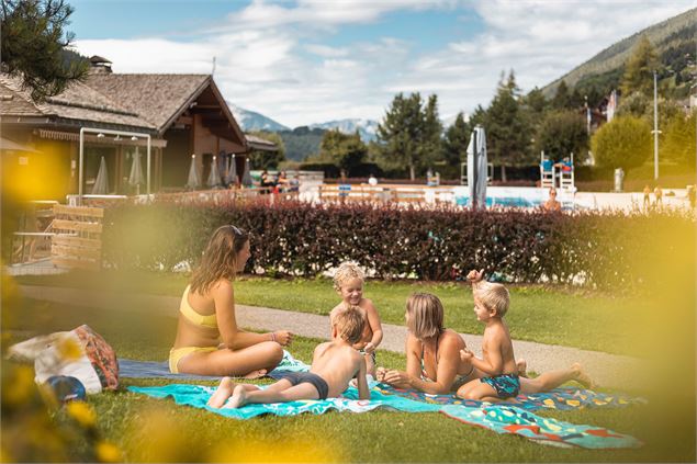
[[[258,282],[255,282],[258,283]],[[322,283],[323,286],[326,282]],[[371,284],[372,287],[372,284]],[[16,299],[3,307],[3,340],[12,342],[88,324],[122,358],[165,359],[176,319],[122,308],[97,310]],[[318,340],[297,338],[293,354],[308,362]],[[386,366],[404,357],[380,353]],[[128,385],[169,381],[123,380]],[[202,383],[202,382],[196,382]],[[674,411],[662,404],[622,409],[542,411],[540,415],[606,427],[645,442],[639,450],[581,450],[543,446],[511,435],[469,427],[440,414],[325,414],[237,421],[126,391],[91,396],[102,434],[130,462],[694,462],[694,405]],[[670,405],[668,405],[670,406]],[[674,408],[676,409],[676,408]],[[690,414],[685,415],[685,410]],[[4,416],[3,416],[4,417]],[[4,419],[3,419],[4,420]],[[3,423],[3,429],[5,425]]]

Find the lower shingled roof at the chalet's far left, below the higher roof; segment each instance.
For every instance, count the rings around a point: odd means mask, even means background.
[[[19,78],[0,73],[0,102],[3,116],[56,116],[130,127],[154,129],[145,118],[81,82],[72,82],[57,97],[43,103],[32,100]]]

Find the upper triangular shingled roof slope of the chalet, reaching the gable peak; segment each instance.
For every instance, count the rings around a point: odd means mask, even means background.
[[[210,82],[210,75],[93,73],[86,83],[161,132]]]

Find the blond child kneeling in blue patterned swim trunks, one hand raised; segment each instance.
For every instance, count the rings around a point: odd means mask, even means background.
[[[499,401],[518,396],[521,383],[510,333],[504,322],[510,297],[504,285],[482,279],[483,270],[470,271],[468,274],[468,280],[472,283],[474,314],[477,320],[486,324],[482,339],[483,357],[476,358],[465,348],[460,350],[460,360],[463,363],[472,363],[472,366],[485,376],[462,385],[457,395],[464,399]],[[572,380],[591,388],[595,386],[581,364],[575,363],[567,370],[548,372],[535,380],[524,378],[522,389],[525,393],[539,393]]]

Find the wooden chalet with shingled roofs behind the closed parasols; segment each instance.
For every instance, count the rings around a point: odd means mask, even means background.
[[[2,168],[4,172],[29,168],[32,176],[50,180],[47,184],[53,188],[36,192],[36,197],[64,200],[78,192],[82,127],[150,135],[153,192],[181,190],[192,154],[203,182],[214,156],[223,167],[234,159],[241,176],[250,145],[212,76],[122,75],[113,73],[102,57],[90,63],[85,82],[75,82],[43,103],[34,102],[18,79],[0,75],[2,137],[37,151],[3,150]],[[90,192],[103,157],[111,193],[132,193],[127,182],[132,155],[137,146],[145,170],[145,139],[88,134],[85,140],[83,191]]]

